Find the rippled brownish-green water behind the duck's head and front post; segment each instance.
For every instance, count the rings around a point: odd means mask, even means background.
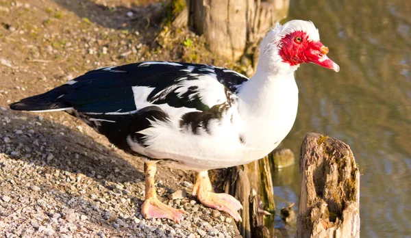
[[[298,158],[309,131],[349,144],[362,170],[361,236],[411,237],[411,1],[292,0],[296,18],[319,28],[340,72],[297,70],[297,121],[279,147]],[[275,176],[286,178],[275,196],[298,204],[298,161]]]

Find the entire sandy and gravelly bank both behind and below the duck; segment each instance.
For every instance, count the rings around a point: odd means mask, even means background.
[[[165,10],[158,0],[0,0],[0,237],[239,237],[232,217],[190,196],[191,173],[156,176],[160,200],[187,211],[181,224],[145,220],[140,159],[62,112],[7,106],[101,66],[230,67],[188,29],[163,30]]]

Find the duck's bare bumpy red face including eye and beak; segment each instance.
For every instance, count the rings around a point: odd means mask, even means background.
[[[303,31],[294,31],[280,40],[279,49],[284,62],[295,66],[301,63],[313,63],[338,72],[340,67],[327,57],[328,48],[320,41],[312,41]]]

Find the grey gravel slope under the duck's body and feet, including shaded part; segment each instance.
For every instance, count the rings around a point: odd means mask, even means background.
[[[5,107],[0,118],[0,237],[239,236],[232,217],[199,204],[175,171],[159,169],[158,194],[187,211],[181,224],[145,220],[144,178],[127,162],[140,165],[136,158],[93,142],[86,129]]]

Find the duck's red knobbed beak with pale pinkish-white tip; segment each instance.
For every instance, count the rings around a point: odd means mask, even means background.
[[[321,42],[310,42],[306,50],[307,61],[313,64],[318,64],[324,68],[332,69],[336,72],[340,71],[340,66],[327,57],[328,47],[325,47]]]

